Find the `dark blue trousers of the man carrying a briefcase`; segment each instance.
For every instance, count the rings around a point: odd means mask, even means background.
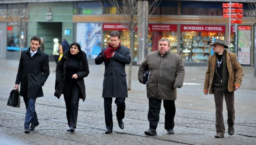
[[[35,110],[35,103],[36,103],[36,98],[23,98],[25,105],[26,105],[26,116],[25,116],[25,122],[24,122],[24,127],[29,128],[30,123],[31,124],[36,124],[38,123],[37,119],[37,114]]]

